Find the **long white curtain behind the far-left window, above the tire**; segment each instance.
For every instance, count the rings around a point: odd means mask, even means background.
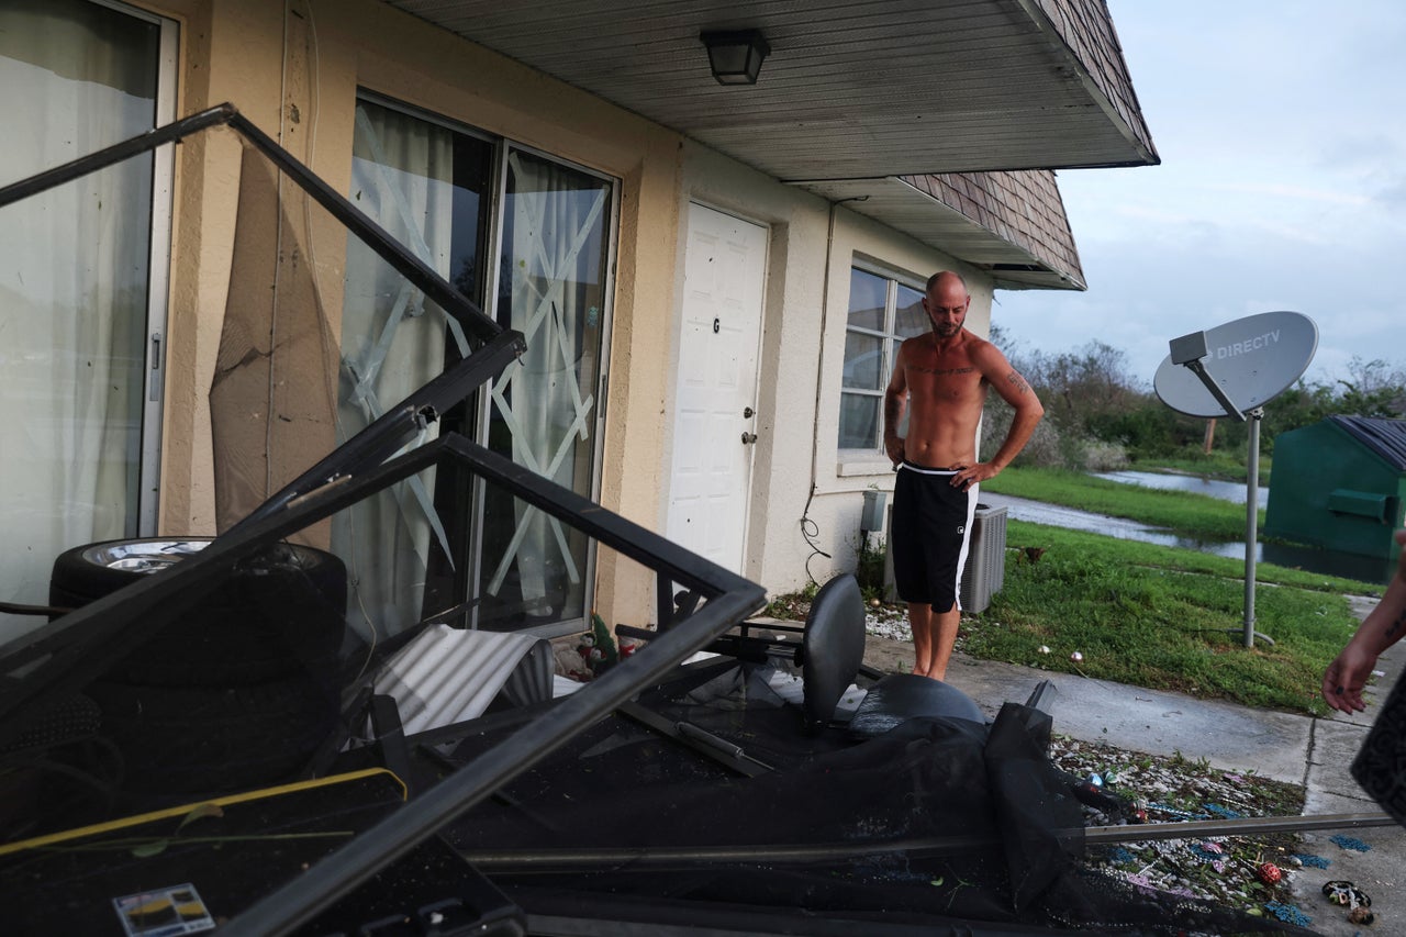
[[[153,125],[152,24],[77,0],[0,4],[0,184]],[[0,598],[136,533],[152,159],[0,210]],[[0,640],[42,619],[0,615]]]

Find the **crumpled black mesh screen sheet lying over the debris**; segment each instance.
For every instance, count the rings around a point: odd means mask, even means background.
[[[444,831],[529,914],[648,906],[679,922],[749,909],[983,934],[1295,933],[1087,871],[1076,779],[1050,763],[1038,709],[813,739],[754,664],[641,702],[775,770],[738,778],[634,720],[598,723]],[[467,739],[454,757],[491,741]]]

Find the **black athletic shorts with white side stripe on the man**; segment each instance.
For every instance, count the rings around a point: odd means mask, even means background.
[[[980,485],[953,488],[956,471],[904,461],[893,488],[889,553],[898,598],[935,612],[962,606],[962,570],[976,518]]]

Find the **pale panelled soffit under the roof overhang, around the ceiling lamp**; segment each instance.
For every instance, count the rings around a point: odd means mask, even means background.
[[[1001,288],[1084,288],[1063,207],[1050,236],[939,179],[1160,162],[1104,0],[385,1],[780,181],[865,197],[846,204]],[[741,28],[770,55],[755,86],[721,86],[699,34]]]

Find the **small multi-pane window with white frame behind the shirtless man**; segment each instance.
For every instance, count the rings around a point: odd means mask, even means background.
[[[839,447],[877,450],[883,443],[883,391],[904,339],[929,328],[922,290],[853,267],[845,371],[839,391]]]

